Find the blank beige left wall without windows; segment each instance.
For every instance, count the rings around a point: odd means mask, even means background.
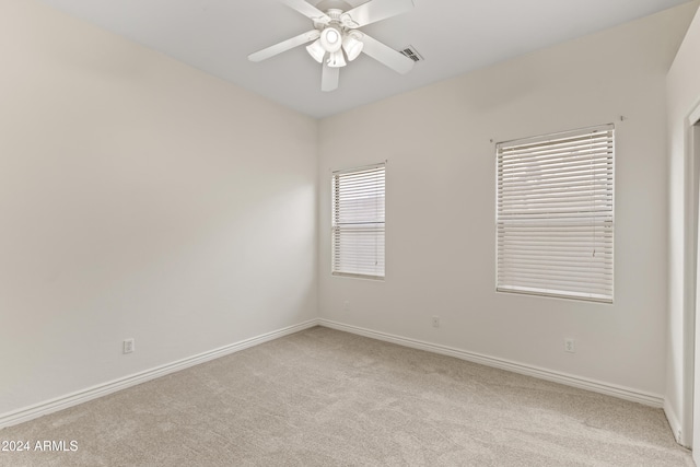
[[[32,0],[0,57],[0,416],[316,317],[315,120]]]

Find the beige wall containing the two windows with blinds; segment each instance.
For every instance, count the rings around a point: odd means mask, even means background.
[[[621,387],[661,404],[667,326],[665,75],[692,8],[324,119],[322,317]],[[617,127],[615,304],[495,293],[491,140],[607,122]],[[386,280],[331,277],[330,172],[383,160]],[[431,326],[433,315],[440,328]],[[576,353],[563,351],[565,337],[576,340]]]

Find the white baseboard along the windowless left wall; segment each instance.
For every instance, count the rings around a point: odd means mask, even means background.
[[[137,384],[145,383],[156,377],[165,376],[166,374],[174,373],[180,370],[185,370],[190,366],[198,365],[200,363],[208,362],[210,360],[218,359],[220,357],[229,355],[231,353],[238,352],[253,346],[257,346],[262,342],[267,342],[273,339],[278,339],[290,334],[299,332],[300,330],[308,329],[314,326],[318,326],[318,319],[310,319],[307,322],[289,326],[282,329],[278,329],[271,332],[267,332],[250,339],[245,339],[240,342],[231,343],[229,346],[221,347],[219,349],[210,350],[208,352],[200,353],[198,355],[189,357],[187,359],[178,360],[173,363],[156,366],[151,370],[147,370],[140,373],[136,373],[129,376],[125,376],[118,380],[110,381],[108,383],[98,384],[93,387],[89,387],[82,390],[78,390],[66,396],[57,397],[45,402],[36,404],[30,407],[25,407],[20,410],[0,415],[0,430],[14,424],[23,423],[58,410],[67,409],[79,404],[86,402],[98,397],[106,396],[117,390],[126,389],[127,387],[136,386]]]

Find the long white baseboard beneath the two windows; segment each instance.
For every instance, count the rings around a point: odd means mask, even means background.
[[[587,389],[594,393],[600,393],[608,396],[618,397],[620,399],[644,404],[646,406],[651,406],[655,408],[664,407],[664,397],[657,394],[643,393],[640,390],[631,389],[629,387],[603,383],[599,381],[588,380],[580,376],[574,376],[565,373],[546,370],[538,366],[526,365],[523,363],[512,362],[509,360],[499,359],[494,357],[488,357],[480,353],[468,352],[468,351],[455,349],[452,347],[423,342],[420,340],[409,339],[409,338],[395,336],[386,332],[378,332],[375,330],[365,329],[357,326],[350,326],[342,323],[332,322],[329,319],[322,318],[319,320],[319,325],[328,328],[337,329],[337,330],[342,330],[346,332],[352,332],[360,336],[370,337],[377,340],[384,340],[386,342],[397,343],[399,346],[410,347],[410,348],[420,349],[420,350],[427,350],[429,352],[450,355],[450,357],[466,360],[469,362],[487,365],[487,366],[506,370],[514,373],[537,377],[540,380],[547,380],[553,383],[560,383],[567,386],[578,387],[580,389]]]

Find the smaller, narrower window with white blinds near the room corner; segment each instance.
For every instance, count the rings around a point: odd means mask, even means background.
[[[384,278],[385,164],[332,174],[332,273]]]

